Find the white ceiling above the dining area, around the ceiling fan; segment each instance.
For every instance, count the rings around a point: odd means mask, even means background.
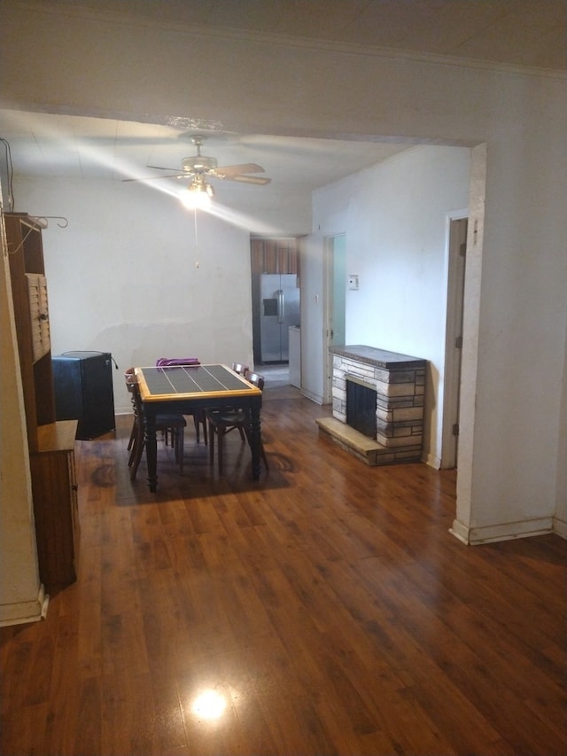
[[[179,170],[183,157],[196,153],[193,134],[207,135],[201,152],[214,156],[219,166],[257,163],[274,185],[290,189],[324,186],[408,149],[408,144],[243,135],[0,110],[0,136],[10,144],[14,175],[110,180],[167,175],[146,166]]]

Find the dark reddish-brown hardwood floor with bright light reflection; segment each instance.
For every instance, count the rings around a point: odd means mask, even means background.
[[[3,756],[563,756],[567,544],[466,547],[454,472],[369,468],[267,389],[270,470],[77,442],[79,580],[0,631]],[[202,698],[199,698],[201,696]]]

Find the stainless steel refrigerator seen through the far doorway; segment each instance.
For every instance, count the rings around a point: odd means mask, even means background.
[[[261,362],[288,362],[290,325],[299,325],[299,288],[295,274],[260,276]]]

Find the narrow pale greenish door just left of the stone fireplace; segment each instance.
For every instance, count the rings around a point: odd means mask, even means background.
[[[323,403],[332,401],[332,355],[330,347],[346,343],[346,234],[324,240],[325,333]]]

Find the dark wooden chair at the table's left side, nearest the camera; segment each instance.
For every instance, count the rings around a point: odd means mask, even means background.
[[[134,370],[126,371],[126,387],[132,397],[132,406],[134,409],[134,424],[128,441],[128,467],[130,468],[130,480],[136,478],[142,454],[145,448],[144,436],[144,404],[140,396],[140,389],[136,382]],[[183,440],[185,431],[185,418],[181,412],[159,412],[156,417],[156,431],[169,433],[172,439],[172,446],[175,452],[175,462],[179,465],[179,472],[183,474]]]

